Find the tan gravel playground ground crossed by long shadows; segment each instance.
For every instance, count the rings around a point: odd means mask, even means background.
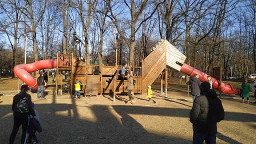
[[[46,99],[37,99],[31,92],[42,126],[36,134],[39,143],[192,143],[192,97],[185,92],[168,91],[164,97],[152,89],[152,101],[146,94],[136,94],[134,104],[125,104],[126,95],[117,95],[113,102],[111,95],[78,99],[69,94],[55,96],[52,89],[45,90]],[[16,93],[0,91],[0,143],[8,143]],[[222,94],[221,101],[225,119],[217,124],[217,143],[255,143],[255,98],[245,104],[236,95]],[[20,136],[21,127],[15,143]]]

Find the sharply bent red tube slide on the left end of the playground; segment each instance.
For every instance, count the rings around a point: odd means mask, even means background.
[[[14,74],[17,75],[28,87],[37,89],[37,79],[30,75],[28,72],[33,72],[45,68],[56,68],[56,59],[39,60],[29,64],[18,64],[13,68]]]

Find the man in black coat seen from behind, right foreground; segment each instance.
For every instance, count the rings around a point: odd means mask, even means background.
[[[217,122],[224,119],[224,109],[209,82],[200,85],[200,96],[194,99],[189,113],[193,124],[193,143],[216,143]]]

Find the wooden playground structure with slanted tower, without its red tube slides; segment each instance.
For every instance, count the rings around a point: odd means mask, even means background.
[[[136,76],[133,76],[136,82],[132,92],[143,94],[147,90],[147,86],[151,85],[160,74],[162,89],[162,79],[167,79],[166,68],[168,67],[179,71],[181,66],[175,62],[183,63],[185,58],[186,56],[167,40],[162,40],[158,45],[153,47],[153,51],[140,62],[140,66],[129,66],[129,70],[136,73]],[[175,62],[173,63],[172,61]],[[72,95],[74,93],[74,82],[76,78],[78,78],[81,83],[86,83],[86,85],[81,85],[80,93],[84,93],[84,95],[113,94],[113,101],[115,101],[116,94],[127,94],[128,92],[125,89],[127,77],[125,76],[124,80],[122,80],[119,75],[118,69],[121,67],[122,65],[117,65],[117,58],[115,65],[108,66],[102,63],[88,64],[74,57],[73,54],[57,53],[56,91],[58,89],[59,80],[57,76],[58,70],[61,70],[60,94],[62,94],[62,89],[64,89],[68,90]],[[99,69],[101,69],[100,72]],[[163,75],[165,75],[165,77],[163,77]],[[165,80],[164,88],[166,96],[167,80]]]

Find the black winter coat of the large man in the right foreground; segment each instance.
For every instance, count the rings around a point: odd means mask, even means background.
[[[189,118],[194,132],[217,133],[217,122],[224,119],[224,109],[214,90],[204,89],[201,91],[201,95],[194,99]]]

